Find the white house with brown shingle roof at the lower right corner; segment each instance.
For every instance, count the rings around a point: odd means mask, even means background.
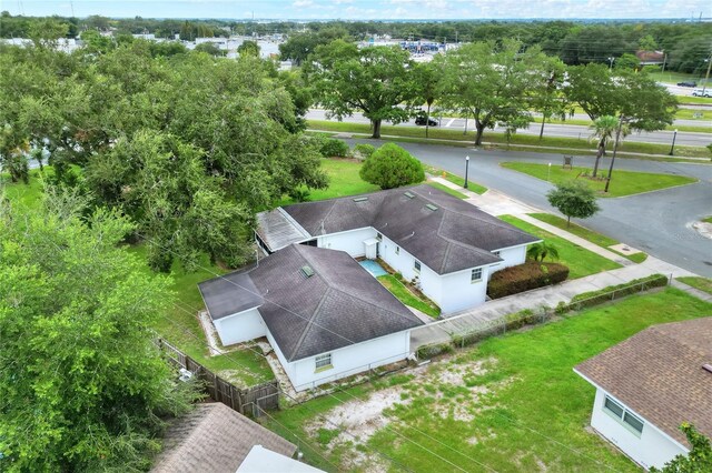
[[[689,452],[683,422],[712,436],[712,318],[651,326],[574,371],[596,388],[591,426],[645,469]]]

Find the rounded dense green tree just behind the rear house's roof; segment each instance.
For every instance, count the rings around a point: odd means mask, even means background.
[[[358,174],[380,189],[399,188],[425,180],[421,161],[395,143],[378,148],[364,161]]]

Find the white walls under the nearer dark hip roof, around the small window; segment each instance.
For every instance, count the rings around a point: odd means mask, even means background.
[[[279,351],[270,333],[267,333],[267,340],[275,349],[279,362],[297,391],[305,391],[319,384],[330,383],[384,364],[405,360],[411,354],[411,331],[397,332],[334,350],[330,352],[333,368],[317,372],[316,356],[289,363]]]

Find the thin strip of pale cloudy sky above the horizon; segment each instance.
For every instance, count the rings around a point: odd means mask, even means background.
[[[0,0],[11,14],[293,20],[712,17],[711,0]]]

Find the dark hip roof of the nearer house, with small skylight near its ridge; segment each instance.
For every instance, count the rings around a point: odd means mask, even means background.
[[[305,265],[314,270],[310,278],[300,271]],[[263,299],[259,313],[288,361],[423,323],[343,251],[291,244],[243,274],[249,276]],[[220,281],[218,278],[201,283],[204,296],[204,288],[220,284],[222,292],[211,293],[234,306],[243,306],[244,288],[230,288]],[[210,296],[205,301],[210,312]]]

